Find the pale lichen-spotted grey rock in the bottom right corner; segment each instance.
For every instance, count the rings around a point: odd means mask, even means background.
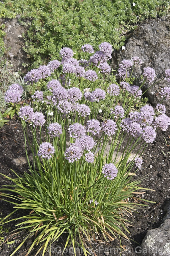
[[[147,232],[141,244],[140,256],[170,256],[170,201],[165,208],[164,222],[159,228]]]

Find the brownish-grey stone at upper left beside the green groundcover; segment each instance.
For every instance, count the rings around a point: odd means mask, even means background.
[[[22,26],[18,22],[18,18],[14,19],[0,19],[0,25],[5,24],[4,44],[6,48],[4,58],[12,64],[14,72],[26,72],[26,68],[22,63],[29,63],[26,53],[23,51],[24,39],[23,33],[27,31],[26,26]]]

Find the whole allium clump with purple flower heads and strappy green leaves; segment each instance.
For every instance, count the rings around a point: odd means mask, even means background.
[[[84,54],[94,53],[89,44],[81,49]],[[20,105],[20,85],[13,84],[6,91],[5,100],[18,108],[29,166],[23,176],[8,177],[16,193],[10,195],[15,199],[15,211],[26,209],[29,213],[17,224],[20,230],[30,228],[25,241],[31,238],[33,242],[27,255],[34,245],[39,245],[37,253],[43,250],[44,255],[62,233],[68,234],[65,246],[71,241],[75,254],[78,244],[84,255],[88,254],[86,245],[91,243],[94,231],[102,233],[105,240],[114,240],[117,234],[128,238],[124,233],[130,221],[127,214],[141,205],[133,193],[143,189],[140,181],[132,180],[129,174],[142,168],[142,152],[155,140],[157,129],[165,131],[170,125],[162,102],[155,110],[148,104],[139,110],[132,108],[136,100],[141,100],[145,81],[154,81],[155,71],[145,68],[141,85],[132,85],[133,68],[141,65],[141,60],[134,57],[123,60],[117,82],[109,82],[108,60],[113,49],[107,42],[101,43],[99,49],[89,59],[78,61],[72,58],[72,49],[64,47],[60,60],[29,71],[24,80],[32,88],[30,104]],[[165,74],[168,80],[169,71]],[[163,99],[169,97],[168,88],[160,91]],[[99,116],[104,101],[109,101],[104,113],[107,118]],[[28,132],[32,132],[32,141]],[[126,144],[122,150],[123,141]],[[138,144],[139,150],[128,163]],[[33,155],[31,162],[28,147]],[[122,155],[118,161],[119,152]],[[11,191],[8,185],[0,190]],[[2,192],[1,196],[8,194]]]

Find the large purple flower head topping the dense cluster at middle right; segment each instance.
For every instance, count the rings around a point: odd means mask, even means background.
[[[142,125],[146,126],[147,124],[151,125],[154,118],[154,109],[150,105],[142,106],[140,109],[140,115],[142,118]]]

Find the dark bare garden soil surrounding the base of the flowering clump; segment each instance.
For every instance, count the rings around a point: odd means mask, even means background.
[[[166,141],[167,144],[166,144]],[[8,122],[8,125],[4,125],[0,129],[0,172],[10,176],[15,177],[10,169],[15,170],[19,175],[24,171],[28,170],[27,163],[21,165],[16,165],[14,159],[19,157],[24,157],[24,137],[22,135],[22,127],[20,121],[15,117],[13,120]],[[162,223],[163,216],[165,215],[164,207],[168,198],[169,193],[169,171],[170,171],[170,131],[158,131],[157,138],[153,144],[148,145],[148,148],[143,154],[143,167],[141,170],[137,171],[136,177],[140,178],[142,176],[148,175],[141,183],[142,187],[152,188],[155,191],[147,191],[143,198],[156,202],[156,204],[148,203],[145,208],[138,209],[133,216],[130,216],[129,220],[132,222],[132,226],[129,227],[130,234],[128,235],[132,240],[125,240],[122,238],[122,255],[123,256],[136,256],[139,255],[137,252],[138,246],[140,246],[142,239],[145,237],[147,230],[157,228]],[[11,184],[10,181],[6,181],[3,176],[0,176],[1,184]],[[135,195],[134,195],[135,196]],[[140,202],[140,201],[139,201]],[[0,217],[4,217],[13,211],[13,206],[10,203],[0,200]],[[22,216],[22,212],[16,212],[14,217]],[[12,217],[11,217],[12,218]],[[9,241],[14,241],[12,244],[1,245],[0,256],[10,256],[10,254],[15,250],[27,235],[27,233],[21,233],[21,235],[10,236],[10,231],[15,229],[14,222],[8,223],[3,226],[3,229],[8,231],[4,234],[4,239]],[[97,237],[96,237],[97,238]],[[51,247],[51,255],[62,255],[62,250],[64,248],[64,243],[66,242],[66,235],[64,235],[60,240],[54,243]],[[105,242],[101,238],[92,239],[92,248],[97,256],[102,255],[120,255],[120,242],[119,237],[112,242]],[[27,241],[19,251],[15,254],[25,255],[25,251],[31,245],[31,240]],[[135,249],[136,248],[136,249]],[[136,251],[136,252],[135,252]],[[83,255],[79,249],[77,249],[77,255]],[[67,248],[64,255],[72,255],[72,247]],[[31,252],[31,256],[35,256],[36,250]],[[38,255],[42,255],[39,253]],[[49,253],[45,253],[45,256]],[[95,255],[95,254],[93,254]]]

